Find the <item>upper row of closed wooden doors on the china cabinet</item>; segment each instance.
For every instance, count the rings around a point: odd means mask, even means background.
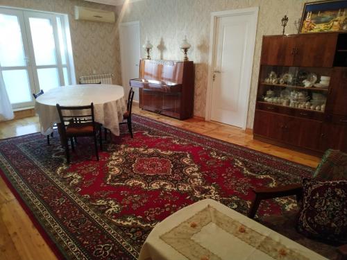
[[[261,64],[332,67],[338,33],[265,36]]]

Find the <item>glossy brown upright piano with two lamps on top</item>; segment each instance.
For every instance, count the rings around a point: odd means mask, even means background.
[[[189,119],[194,112],[194,63],[171,60],[141,60],[139,78],[130,80],[139,87],[139,107],[176,119]]]

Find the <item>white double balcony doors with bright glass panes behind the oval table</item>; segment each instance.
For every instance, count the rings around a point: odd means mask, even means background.
[[[33,93],[71,83],[65,17],[0,8],[0,77],[13,108],[33,105]]]

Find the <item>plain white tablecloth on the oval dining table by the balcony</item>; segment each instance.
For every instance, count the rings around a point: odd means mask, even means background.
[[[70,85],[44,92],[35,102],[42,134],[49,135],[52,126],[60,123],[56,104],[80,106],[90,103],[94,104],[95,121],[102,123],[114,135],[119,135],[119,123],[126,112],[124,89],[121,86],[105,84]]]

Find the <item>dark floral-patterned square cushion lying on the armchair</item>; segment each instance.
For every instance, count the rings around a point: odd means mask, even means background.
[[[312,239],[347,243],[347,180],[303,179],[303,207],[298,232]]]

